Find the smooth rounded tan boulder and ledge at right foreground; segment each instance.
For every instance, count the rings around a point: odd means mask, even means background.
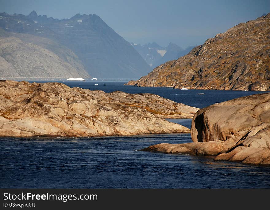
[[[215,160],[270,166],[270,93],[200,109],[192,119],[191,138],[191,143],[163,143],[143,150],[214,155]]]

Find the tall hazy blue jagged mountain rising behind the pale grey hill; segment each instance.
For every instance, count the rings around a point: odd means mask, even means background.
[[[56,43],[54,50],[64,46],[72,51],[92,77],[138,78],[151,70],[129,42],[97,15],[76,14],[58,20],[33,11],[28,16],[0,16],[0,28],[5,31],[47,38]]]

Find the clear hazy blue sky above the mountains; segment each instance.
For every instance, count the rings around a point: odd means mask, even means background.
[[[269,0],[0,0],[0,12],[58,19],[96,14],[128,42],[203,44],[229,28],[270,12]]]

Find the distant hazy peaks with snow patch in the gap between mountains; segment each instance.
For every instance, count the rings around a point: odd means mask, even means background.
[[[170,42],[167,47],[162,47],[156,42],[149,42],[143,46],[141,44],[134,44],[133,42],[130,44],[138,51],[138,53],[140,53],[141,57],[143,57],[146,63],[154,68],[164,62],[175,60],[186,55],[194,47],[189,46],[186,49],[183,49],[172,42]]]

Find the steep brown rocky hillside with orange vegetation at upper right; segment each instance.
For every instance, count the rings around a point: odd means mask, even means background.
[[[156,67],[139,87],[270,90],[270,13],[207,39],[187,55]]]

